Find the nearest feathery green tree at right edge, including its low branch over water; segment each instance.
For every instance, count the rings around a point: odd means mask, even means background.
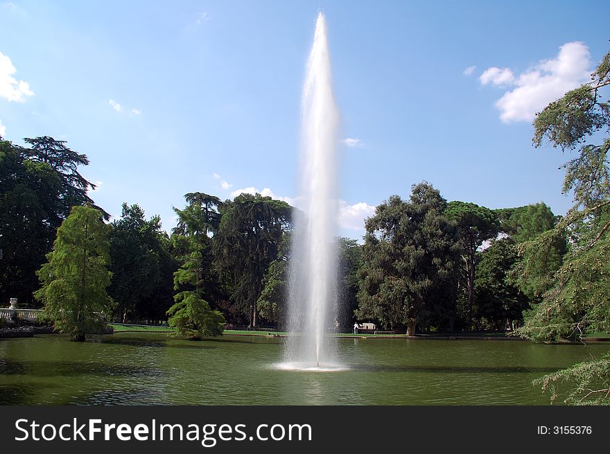
[[[591,82],[568,91],[534,120],[534,146],[548,142],[577,156],[564,166],[563,191],[573,191],[573,208],[553,229],[524,243],[525,251],[535,250],[570,236],[570,250],[554,285],[525,314],[519,330],[532,340],[575,339],[586,330],[610,326],[610,139],[590,142],[599,138],[597,132],[610,131],[610,105],[602,100],[604,87],[610,85],[610,53],[591,76]],[[528,271],[526,264],[524,273]],[[544,376],[538,383],[548,389],[559,379],[575,385],[566,403],[609,403],[607,357]]]

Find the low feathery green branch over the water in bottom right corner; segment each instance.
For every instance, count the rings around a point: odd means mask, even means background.
[[[534,380],[534,385],[541,386],[543,392],[549,392],[551,402],[561,396],[560,383],[571,386],[563,395],[564,403],[610,405],[610,353]]]

